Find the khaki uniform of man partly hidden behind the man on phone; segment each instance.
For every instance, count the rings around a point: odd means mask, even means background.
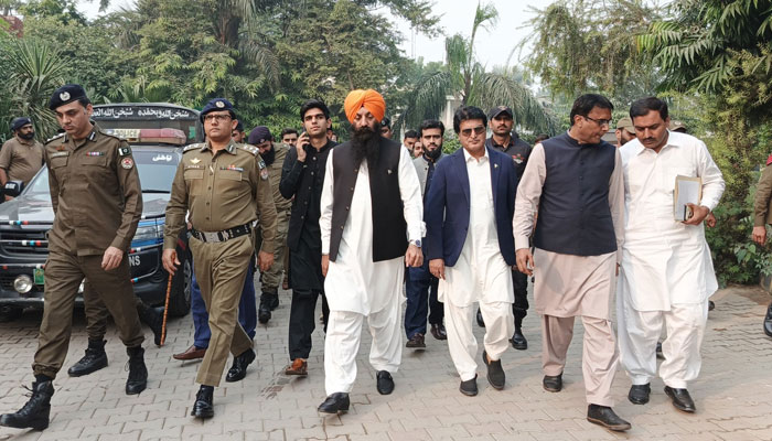
[[[277,293],[281,284],[281,275],[285,271],[285,257],[287,255],[287,232],[289,229],[289,218],[292,208],[292,200],[286,200],[279,191],[281,183],[281,166],[289,147],[283,143],[275,143],[276,157],[274,163],[268,165],[268,174],[271,187],[274,189],[274,203],[276,204],[276,251],[274,252],[274,265],[268,271],[262,273],[262,291]],[[261,237],[258,237],[256,248],[260,248]]]

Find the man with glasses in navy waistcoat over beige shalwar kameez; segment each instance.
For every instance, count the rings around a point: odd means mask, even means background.
[[[562,388],[573,320],[581,316],[587,419],[623,431],[630,423],[611,409],[619,363],[611,300],[624,235],[624,181],[619,150],[601,141],[612,109],[603,96],[582,95],[573,103],[568,132],[534,148],[517,186],[513,229],[517,268],[536,275],[545,390]]]

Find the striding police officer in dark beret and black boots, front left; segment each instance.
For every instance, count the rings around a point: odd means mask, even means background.
[[[32,369],[32,397],[0,424],[45,429],[53,379],[67,355],[73,308],[87,278],[118,326],[129,354],[126,394],[147,387],[142,330],[135,308],[127,250],[142,215],[142,192],[131,149],[89,121],[93,108],[79,85],[65,85],[49,108],[65,133],[45,144],[54,225],[45,262],[45,310]]]

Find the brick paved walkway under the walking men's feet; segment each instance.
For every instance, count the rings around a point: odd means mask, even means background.
[[[615,410],[633,424],[626,434],[585,420],[580,324],[569,352],[566,388],[560,394],[542,389],[535,313],[524,323],[528,351],[510,349],[503,357],[506,388],[491,388],[481,367],[480,395],[473,398],[458,391],[448,349],[431,336],[426,351],[405,349],[394,394],[378,395],[365,334],[351,411],[322,418],[315,409],[324,399],[323,335],[319,329],[314,334],[309,377],[286,377],[289,295],[282,292],[274,319],[258,329],[257,363],[247,378],[216,389],[214,419],[202,423],[187,416],[199,364],[171,358],[192,342],[190,316],[171,323],[167,346],[147,348],[149,388],[129,397],[124,394],[127,356],[115,327],[108,334],[110,365],[90,376],[67,377],[66,368],[86,346],[83,314],[76,314],[65,368],[54,383],[51,427],[44,432],[0,428],[0,440],[772,440],[772,340],[761,331],[769,297],[761,289],[741,288],[722,290],[714,300],[703,373],[689,387],[697,413],[676,411],[661,380],[652,384],[648,405],[631,405],[625,398],[630,381],[620,373]],[[25,401],[21,386],[32,380],[40,316],[28,312],[20,321],[0,324],[0,412]],[[151,342],[150,332],[146,334]],[[483,331],[475,329],[475,334],[482,342]]]

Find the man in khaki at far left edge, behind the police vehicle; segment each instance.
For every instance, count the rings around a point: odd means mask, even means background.
[[[14,118],[11,131],[13,138],[0,150],[0,185],[8,181],[22,181],[26,185],[43,166],[43,144],[35,141],[35,129],[28,117]],[[11,198],[6,196],[6,201]]]

